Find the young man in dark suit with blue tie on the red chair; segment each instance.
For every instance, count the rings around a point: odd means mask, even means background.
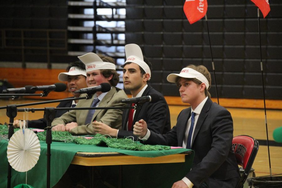
[[[145,144],[180,146],[195,151],[191,170],[173,184],[176,187],[236,187],[240,175],[231,151],[233,122],[230,112],[213,103],[208,89],[211,75],[206,67],[189,65],[180,74],[170,74],[169,82],[179,87],[182,102],[191,107],[180,112],[176,125],[166,134],[156,134],[141,119],[133,133]]]

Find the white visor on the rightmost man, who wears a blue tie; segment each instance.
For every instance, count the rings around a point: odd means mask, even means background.
[[[199,81],[203,82],[206,85],[207,89],[210,86],[209,81],[206,79],[206,77],[202,73],[194,69],[191,69],[191,68],[183,68],[179,74],[170,74],[169,76],[167,76],[166,79],[169,82],[175,83],[177,77],[196,78]]]

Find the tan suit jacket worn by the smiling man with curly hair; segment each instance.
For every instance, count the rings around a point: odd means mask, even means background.
[[[86,96],[86,94],[82,94],[81,97]],[[121,100],[126,99],[127,95],[122,89],[117,87],[112,87],[112,89],[105,95],[102,101],[99,103],[99,107],[122,107],[125,104],[121,103]],[[78,101],[76,107],[90,107],[93,102],[94,96],[92,99],[81,99]],[[122,121],[122,113],[123,110],[95,110],[93,114],[92,121],[96,120],[106,125],[120,129],[121,121]],[[75,135],[94,135],[95,132],[92,128],[92,124],[89,123],[85,125],[85,119],[87,117],[88,110],[71,110],[70,112],[66,112],[60,118],[55,118],[52,122],[52,126],[58,124],[67,124],[71,122],[76,122],[78,127],[70,130],[71,134]],[[92,122],[91,121],[91,122]]]

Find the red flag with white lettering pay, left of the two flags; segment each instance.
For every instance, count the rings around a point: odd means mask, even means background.
[[[190,24],[195,23],[206,15],[206,0],[186,0],[183,7],[184,13]]]

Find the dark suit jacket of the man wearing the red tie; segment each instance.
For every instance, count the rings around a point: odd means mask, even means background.
[[[170,110],[165,101],[165,97],[151,86],[147,86],[142,96],[148,96],[153,93],[158,94],[160,100],[155,103],[145,102],[141,109],[136,110],[132,124],[134,125],[135,122],[144,119],[151,131],[165,134],[170,131]],[[128,104],[127,106],[131,106],[131,104]],[[130,109],[123,110],[122,130],[118,131],[118,138],[132,136],[134,137],[134,140],[137,140],[137,136],[133,135],[133,131],[127,131],[129,110]]]

